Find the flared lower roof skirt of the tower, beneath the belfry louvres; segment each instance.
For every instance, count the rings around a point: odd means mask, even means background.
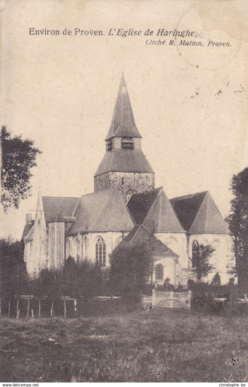
[[[154,173],[141,149],[113,149],[106,152],[94,176],[105,172]]]

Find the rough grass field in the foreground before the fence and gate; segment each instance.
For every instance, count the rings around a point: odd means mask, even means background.
[[[242,317],[155,308],[0,324],[1,382],[248,382]]]

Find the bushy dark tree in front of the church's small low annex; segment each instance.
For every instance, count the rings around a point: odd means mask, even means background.
[[[124,296],[146,291],[152,267],[153,258],[146,244],[122,243],[110,256],[110,286]]]

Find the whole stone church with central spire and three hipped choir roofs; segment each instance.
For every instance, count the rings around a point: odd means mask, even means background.
[[[154,171],[141,149],[122,75],[105,154],[94,176],[94,192],[81,197],[38,194],[34,220],[26,216],[24,260],[29,274],[59,268],[69,255],[109,266],[121,243],[153,240],[154,281],[186,285],[195,270],[197,245],[211,244],[221,283],[234,260],[231,233],[209,192],[168,199],[155,188]]]

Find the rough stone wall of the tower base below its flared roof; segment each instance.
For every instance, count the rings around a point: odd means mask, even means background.
[[[131,194],[151,191],[155,188],[154,173],[107,172],[94,178],[94,192],[117,187],[125,202]]]

